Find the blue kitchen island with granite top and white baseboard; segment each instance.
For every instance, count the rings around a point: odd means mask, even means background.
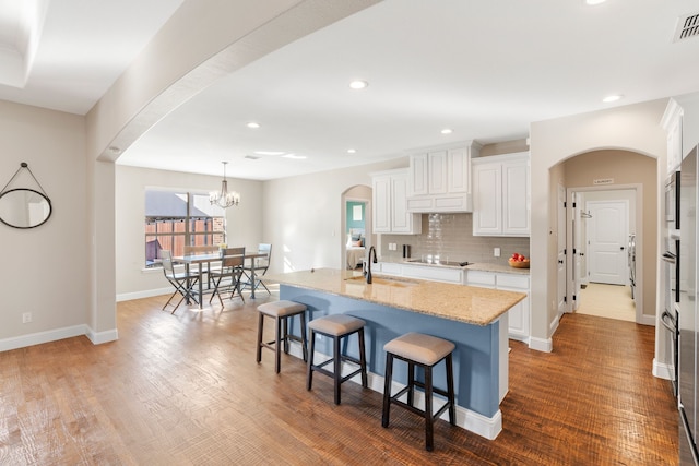
[[[407,332],[449,339],[457,389],[457,425],[495,439],[502,429],[499,404],[508,390],[507,311],[524,294],[402,277],[374,276],[371,285],[357,272],[320,268],[268,275],[280,284],[280,299],[303,302],[308,319],[346,313],[366,321],[369,386],[383,391],[383,345]],[[330,348],[317,345],[320,353]],[[356,356],[356,342],[348,354]],[[394,380],[405,380],[398,367]],[[437,367],[435,380],[445,380]]]

